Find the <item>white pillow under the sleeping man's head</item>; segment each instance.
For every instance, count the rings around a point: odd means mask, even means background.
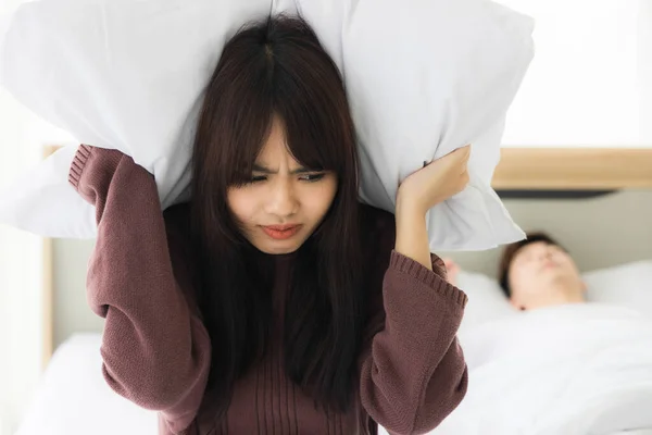
[[[637,310],[652,319],[652,260],[637,261],[586,272],[587,300]],[[518,313],[498,281],[480,273],[461,271],[457,286],[468,296],[460,326],[463,335],[494,320]]]

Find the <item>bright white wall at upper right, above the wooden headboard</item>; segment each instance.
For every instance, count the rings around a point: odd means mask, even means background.
[[[510,146],[652,145],[650,0],[497,0],[536,21]]]

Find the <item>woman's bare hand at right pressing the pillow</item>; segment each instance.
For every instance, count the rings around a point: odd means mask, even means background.
[[[471,145],[459,148],[414,172],[401,183],[397,210],[425,214],[432,207],[464,190],[468,184]]]

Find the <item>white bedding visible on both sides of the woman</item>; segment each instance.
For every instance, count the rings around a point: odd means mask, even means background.
[[[634,311],[543,309],[460,339],[468,393],[431,435],[652,435],[652,321]],[[99,334],[59,348],[15,435],[156,434],[154,412],[106,385],[99,348]]]

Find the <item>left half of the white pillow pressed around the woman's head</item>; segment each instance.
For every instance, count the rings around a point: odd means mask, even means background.
[[[167,208],[187,199],[192,129],[224,42],[271,8],[271,0],[27,2],[0,47],[0,84],[80,144],[131,156],[154,174]]]

